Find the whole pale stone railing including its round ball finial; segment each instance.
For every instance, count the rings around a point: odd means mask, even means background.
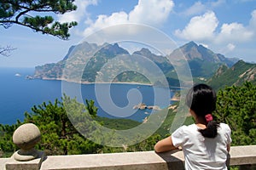
[[[32,133],[27,133],[28,129]],[[161,154],[157,154],[154,151],[141,151],[113,154],[45,156],[43,151],[34,149],[34,145],[39,139],[40,133],[38,133],[38,128],[33,124],[19,127],[14,133],[14,142],[20,146],[20,150],[15,152],[10,158],[0,159],[0,170],[184,169],[183,151],[181,150],[172,150]],[[239,166],[240,169],[255,169],[256,145],[231,147],[227,164],[229,166]]]

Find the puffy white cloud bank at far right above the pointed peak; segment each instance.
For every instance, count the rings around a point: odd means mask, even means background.
[[[252,40],[256,30],[256,10],[252,13],[249,26],[240,23],[224,23],[217,32],[218,19],[210,11],[203,15],[193,17],[183,30],[176,30],[175,35],[186,40],[230,43]]]

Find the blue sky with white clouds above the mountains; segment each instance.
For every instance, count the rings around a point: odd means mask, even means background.
[[[9,57],[0,56],[0,67],[58,62],[72,45],[121,24],[154,28],[177,47],[194,41],[225,57],[256,62],[256,0],[76,0],[75,4],[76,11],[53,15],[61,22],[79,23],[70,30],[67,41],[23,26],[0,26],[0,47],[15,48]]]

